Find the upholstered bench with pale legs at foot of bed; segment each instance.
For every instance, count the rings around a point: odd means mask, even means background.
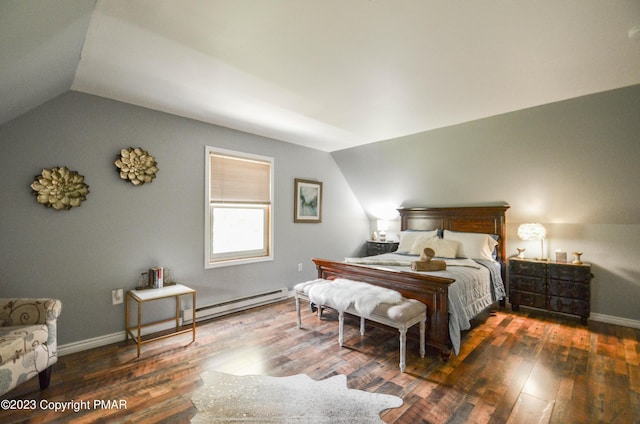
[[[298,320],[298,328],[302,328],[302,319],[300,317],[300,299],[311,301],[309,296],[313,286],[318,284],[332,284],[330,280],[313,280],[305,283],[299,283],[294,287],[296,299],[296,313]],[[360,283],[362,284],[362,283]],[[360,317],[360,334],[365,333],[365,321],[368,319],[379,324],[396,328],[400,332],[400,371],[406,369],[406,345],[407,330],[415,324],[420,324],[420,357],[425,355],[425,329],[427,321],[427,307],[424,303],[415,299],[405,299],[401,297],[398,303],[380,303],[373,311],[367,314],[361,314],[353,305],[342,310],[332,305],[331,302],[325,302],[322,305],[316,305],[318,309],[318,317],[322,315],[323,307],[329,307],[338,311],[338,344],[340,347],[344,343],[344,314]]]

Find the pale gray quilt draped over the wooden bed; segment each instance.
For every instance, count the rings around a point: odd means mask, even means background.
[[[418,256],[385,253],[366,258],[347,258],[349,263],[359,263],[374,268],[411,271],[411,262]],[[435,259],[435,258],[434,258]],[[442,259],[442,258],[437,258]],[[456,281],[449,286],[449,336],[453,351],[460,351],[461,332],[471,328],[471,319],[488,306],[505,298],[500,265],[495,261],[472,259],[442,259],[447,262],[446,271],[421,271]]]

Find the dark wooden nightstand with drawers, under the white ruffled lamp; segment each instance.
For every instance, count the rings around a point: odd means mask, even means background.
[[[587,324],[590,313],[591,265],[509,259],[509,302],[522,306],[578,315]]]

